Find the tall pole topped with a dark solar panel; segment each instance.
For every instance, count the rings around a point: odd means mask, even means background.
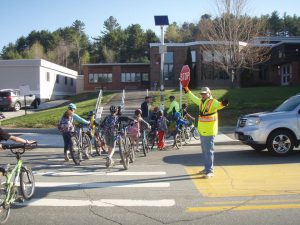
[[[164,45],[164,26],[169,25],[168,16],[154,16],[154,21],[156,26],[160,26],[161,35],[159,53],[160,53],[160,109],[165,109],[165,87],[164,87],[164,62],[165,62],[165,52],[167,48]]]

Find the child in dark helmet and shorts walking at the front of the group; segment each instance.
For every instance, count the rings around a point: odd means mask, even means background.
[[[105,166],[108,168],[114,164],[112,159],[115,147],[116,147],[116,136],[117,136],[117,126],[118,126],[118,116],[117,116],[117,107],[112,105],[109,108],[110,115],[105,117],[101,123],[103,128],[103,134],[105,137],[105,144],[108,147],[108,156],[106,157]]]

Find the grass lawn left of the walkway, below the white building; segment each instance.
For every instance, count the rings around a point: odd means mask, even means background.
[[[114,96],[111,92],[104,92],[102,103],[108,102]],[[83,93],[68,98],[77,106],[76,113],[83,118],[87,117],[87,113],[95,109],[98,93]],[[39,111],[26,116],[15,117],[1,122],[6,127],[23,127],[23,128],[53,128],[56,127],[60,117],[66,111],[66,105],[52,109]]]

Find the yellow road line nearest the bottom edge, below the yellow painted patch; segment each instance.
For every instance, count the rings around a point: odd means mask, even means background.
[[[245,210],[268,210],[268,209],[299,209],[300,204],[278,204],[278,205],[241,205],[241,206],[211,206],[190,207],[187,212],[211,212],[211,211],[245,211]]]

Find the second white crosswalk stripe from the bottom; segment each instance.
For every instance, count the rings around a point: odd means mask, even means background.
[[[36,187],[82,187],[82,188],[167,188],[170,187],[169,182],[153,182],[153,183],[134,183],[134,182],[91,182],[91,183],[76,183],[76,182],[36,182]]]

